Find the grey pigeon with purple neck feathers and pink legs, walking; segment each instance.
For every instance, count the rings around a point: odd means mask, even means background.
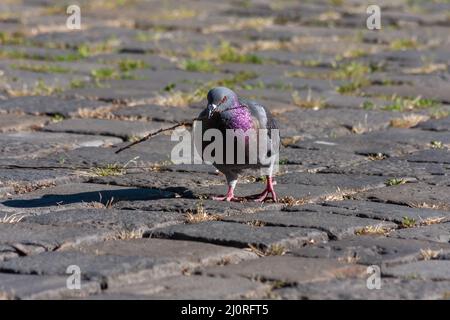
[[[210,144],[215,142],[213,139],[205,139],[205,133],[209,129],[216,129],[216,132],[220,131],[223,137],[223,161],[216,161],[212,164],[217,170],[225,175],[228,184],[228,192],[226,195],[222,197],[213,197],[213,199],[221,201],[239,201],[240,199],[234,195],[234,190],[236,188],[239,175],[241,175],[243,170],[246,169],[264,168],[264,175],[267,183],[266,189],[261,194],[250,197],[255,201],[264,202],[269,199],[270,194],[272,196],[272,200],[276,202],[277,196],[274,190],[275,181],[273,180],[273,169],[274,165],[278,164],[278,158],[275,155],[278,152],[279,131],[278,125],[270,111],[255,101],[240,99],[235,92],[225,87],[216,87],[211,89],[208,92],[207,99],[208,105],[200,113],[196,121],[196,123],[201,123],[203,138],[201,145],[196,145],[196,149],[201,150],[202,159],[205,160],[204,152]],[[230,140],[226,139],[226,132],[229,131],[228,129],[233,129],[231,130],[232,132],[239,130],[240,134],[243,134],[243,136],[241,136],[243,139],[233,140],[231,146],[234,150],[231,155],[231,149],[226,148],[229,144],[228,142],[230,142]],[[197,124],[194,125],[194,130],[198,130]],[[251,136],[249,134],[251,131],[256,134]],[[258,136],[259,134],[261,134],[263,139]],[[240,141],[240,145],[237,140]],[[265,148],[260,149],[263,147],[263,144],[266,144]],[[245,147],[245,154],[241,156],[244,156],[245,161],[242,161],[241,158],[241,161],[239,162],[238,159],[240,154],[238,148],[242,147],[242,145]],[[261,150],[262,154],[264,154],[267,150],[267,157],[264,158],[265,161],[262,161],[263,158],[259,153],[255,153],[255,150],[258,152]],[[221,150],[215,150],[215,152],[220,151]],[[254,153],[253,158],[250,152]],[[215,153],[211,154],[215,155]],[[232,157],[233,155],[234,157]],[[228,159],[227,156],[230,156],[230,159]],[[267,161],[268,158],[270,159],[269,161]],[[251,159],[253,159],[253,161],[250,161]]]

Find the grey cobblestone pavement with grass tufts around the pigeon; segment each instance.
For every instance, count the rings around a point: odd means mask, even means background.
[[[3,0],[0,298],[448,299],[450,3],[372,2]],[[170,135],[114,154],[215,85],[282,126],[279,203],[208,200]]]

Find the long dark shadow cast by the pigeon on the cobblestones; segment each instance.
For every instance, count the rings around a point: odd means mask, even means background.
[[[158,200],[174,198],[176,194],[189,197],[190,191],[182,187],[167,189],[129,188],[120,190],[100,190],[74,194],[46,194],[35,199],[6,200],[3,201],[2,204],[14,208],[39,208],[74,203],[100,202],[108,204],[117,201]]]

